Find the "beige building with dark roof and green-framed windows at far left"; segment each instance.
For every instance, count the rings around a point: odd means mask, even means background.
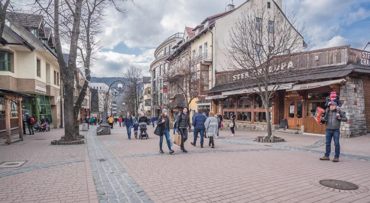
[[[32,95],[23,99],[22,115],[14,116],[37,120],[48,116],[50,127],[59,128],[62,94],[53,38],[42,16],[7,12],[0,44],[0,88]]]

